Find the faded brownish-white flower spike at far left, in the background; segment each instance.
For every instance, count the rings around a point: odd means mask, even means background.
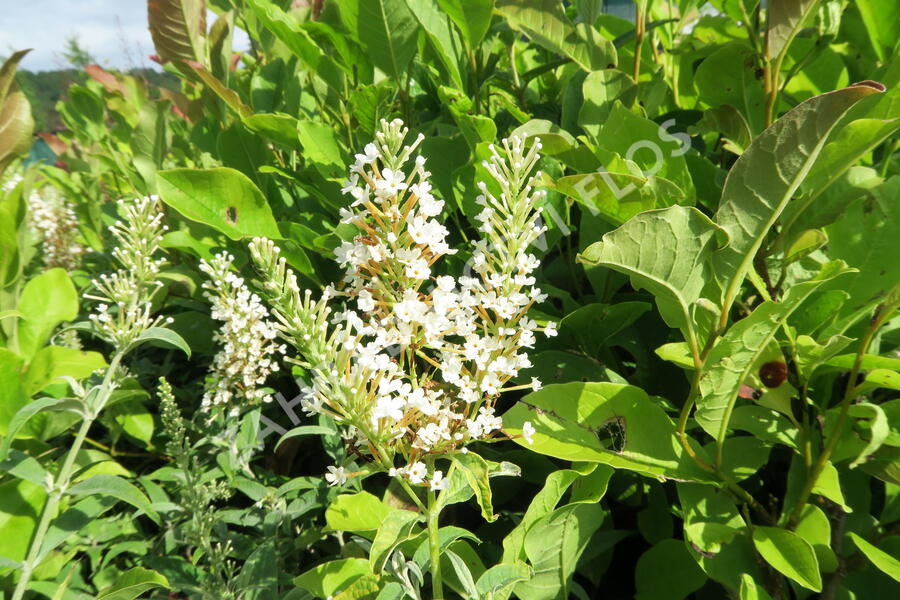
[[[78,217],[72,205],[52,186],[28,196],[28,223],[41,241],[44,264],[67,271],[78,266],[87,250],[78,243]]]

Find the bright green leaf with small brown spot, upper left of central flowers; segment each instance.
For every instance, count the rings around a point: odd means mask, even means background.
[[[160,171],[163,202],[192,221],[205,223],[233,240],[247,236],[281,237],[265,197],[246,175],[234,169]]]

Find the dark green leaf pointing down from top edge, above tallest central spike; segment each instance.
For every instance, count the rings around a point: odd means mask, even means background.
[[[416,53],[419,24],[404,0],[356,0],[360,44],[372,63],[400,81]]]

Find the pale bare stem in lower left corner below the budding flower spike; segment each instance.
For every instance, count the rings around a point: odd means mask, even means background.
[[[22,574],[19,577],[18,584],[16,584],[16,590],[13,592],[12,600],[22,600],[25,591],[28,589],[28,583],[31,581],[31,574],[40,562],[41,546],[44,545],[44,538],[47,535],[47,531],[50,529],[50,523],[56,517],[56,511],[59,508],[60,500],[62,500],[62,497],[69,489],[72,469],[75,466],[75,458],[81,450],[81,446],[84,444],[88,430],[91,428],[91,425],[94,424],[94,421],[112,394],[112,377],[119,367],[122,356],[122,352],[117,352],[110,361],[109,367],[106,370],[106,375],[103,378],[103,383],[101,384],[100,392],[96,398],[96,405],[93,407],[85,405],[87,414],[81,422],[81,427],[79,427],[78,433],[75,435],[75,440],[72,442],[72,446],[66,454],[66,459],[63,462],[62,467],[60,467],[56,479],[53,481],[53,486],[50,489],[47,502],[44,504],[44,509],[41,511],[41,520],[38,522],[37,529],[34,531],[34,536],[31,538],[28,554],[22,562]]]

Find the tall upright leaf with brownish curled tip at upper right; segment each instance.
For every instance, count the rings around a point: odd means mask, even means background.
[[[716,213],[716,223],[731,238],[716,254],[716,272],[729,279],[723,306],[731,306],[766,234],[803,183],[834,126],[850,107],[882,90],[857,84],[810,98],[765,130],[734,163]]]

